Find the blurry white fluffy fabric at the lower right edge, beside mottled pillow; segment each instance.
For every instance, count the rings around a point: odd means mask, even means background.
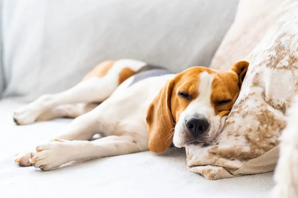
[[[275,170],[274,198],[298,197],[298,96],[287,111],[287,127],[280,136],[280,158]]]

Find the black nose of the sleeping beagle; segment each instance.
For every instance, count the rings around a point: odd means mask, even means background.
[[[186,120],[186,126],[188,131],[192,133],[194,137],[197,137],[207,131],[209,122],[203,118],[191,117]]]

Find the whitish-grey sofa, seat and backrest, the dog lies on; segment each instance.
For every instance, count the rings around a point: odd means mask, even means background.
[[[105,59],[134,58],[180,71],[208,66],[238,0],[1,1],[0,197],[266,197],[273,173],[209,181],[187,170],[184,149],[69,163],[49,172],[14,155],[70,119],[17,126],[15,109],[75,85]]]

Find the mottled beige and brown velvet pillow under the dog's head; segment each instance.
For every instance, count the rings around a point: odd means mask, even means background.
[[[298,9],[245,60],[250,65],[222,132],[207,147],[186,148],[190,171],[210,180],[274,170],[284,113],[298,93]]]

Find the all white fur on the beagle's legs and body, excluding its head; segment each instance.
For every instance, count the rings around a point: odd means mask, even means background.
[[[84,113],[88,103],[107,98],[92,111],[73,120],[64,134],[55,138],[59,141],[51,139],[49,142],[37,145],[38,149],[16,155],[17,164],[29,166],[30,160],[36,168],[50,170],[69,161],[84,161],[148,150],[146,111],[165,82],[175,75],[147,78],[131,87],[128,87],[127,82],[123,82],[117,87],[118,78],[114,75],[119,73],[119,68],[134,63],[133,69],[137,70],[142,62],[116,63],[116,69],[115,65],[112,67],[114,72],[112,69],[112,72],[109,70],[103,78],[91,78],[65,92],[42,96],[16,111],[15,119],[21,124],[28,124],[40,119],[41,115],[49,111],[51,118],[55,115],[59,117],[68,111]],[[131,79],[128,79],[128,82],[130,81]],[[80,108],[77,103],[81,104]],[[66,110],[67,108],[70,109]],[[99,132],[106,137],[87,141]]]

